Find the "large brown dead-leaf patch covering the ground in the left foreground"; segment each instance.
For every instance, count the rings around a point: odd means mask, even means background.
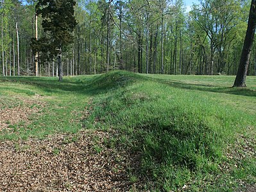
[[[136,155],[105,147],[107,132],[1,141],[0,191],[129,191]]]

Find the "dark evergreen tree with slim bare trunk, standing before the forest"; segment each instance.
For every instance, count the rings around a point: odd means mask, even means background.
[[[73,0],[39,0],[36,5],[37,15],[42,15],[44,36],[32,39],[35,51],[47,54],[47,58],[57,56],[59,81],[62,81],[62,52],[73,42],[73,30],[76,27]]]

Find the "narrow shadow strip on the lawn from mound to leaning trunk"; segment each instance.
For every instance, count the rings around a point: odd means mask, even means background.
[[[153,79],[154,81],[158,81],[160,83],[166,83],[166,84],[169,84],[169,86],[173,86],[175,88],[182,88],[185,90],[200,90],[203,92],[226,93],[226,94],[232,94],[232,95],[244,95],[248,97],[256,97],[256,90],[251,90],[250,88],[221,87],[221,86],[214,86],[210,84],[191,84],[191,83],[170,81],[166,79],[157,79],[157,78],[153,78]]]

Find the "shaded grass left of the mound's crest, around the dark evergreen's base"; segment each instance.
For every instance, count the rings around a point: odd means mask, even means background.
[[[28,84],[46,93],[67,94],[73,92],[92,96],[132,83],[137,79],[135,76],[137,75],[118,71],[98,76],[64,77],[62,82],[58,82],[56,77],[0,77],[0,82]],[[2,86],[1,89],[33,95],[31,88],[24,90],[19,87]]]

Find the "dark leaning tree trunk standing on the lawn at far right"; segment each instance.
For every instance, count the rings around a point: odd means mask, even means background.
[[[237,71],[237,76],[235,77],[235,83],[233,87],[246,87],[245,80],[246,80],[246,75],[247,75],[248,66],[250,62],[250,55],[252,52],[255,28],[256,28],[256,1],[252,0],[246,36],[244,39],[244,47],[243,47],[240,64]]]

